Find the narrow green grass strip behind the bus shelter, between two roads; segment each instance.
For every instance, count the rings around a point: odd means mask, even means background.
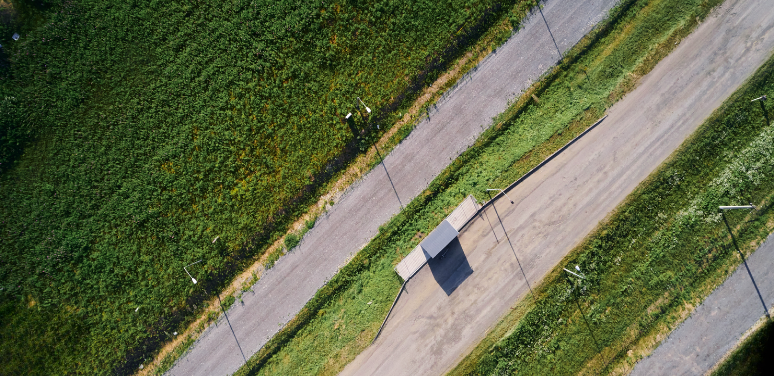
[[[375,336],[402,283],[392,266],[416,246],[416,234],[430,232],[468,194],[485,199],[485,188],[510,184],[580,134],[719,2],[629,0],[616,6],[426,191],[383,225],[237,374],[341,371]],[[615,49],[608,48],[612,44]]]

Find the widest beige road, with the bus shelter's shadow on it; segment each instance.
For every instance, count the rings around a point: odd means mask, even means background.
[[[515,204],[488,206],[409,280],[382,335],[341,374],[453,368],[529,292],[522,267],[539,283],[771,56],[772,25],[770,0],[715,9],[606,120],[509,191]]]

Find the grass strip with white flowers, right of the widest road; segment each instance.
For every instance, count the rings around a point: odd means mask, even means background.
[[[758,206],[725,214],[745,255],[774,230],[770,105],[750,102],[774,91],[772,78],[774,58],[450,375],[631,371],[741,263],[717,206]],[[567,280],[574,265],[586,280]]]

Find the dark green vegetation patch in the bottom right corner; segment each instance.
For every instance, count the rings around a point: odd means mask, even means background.
[[[774,372],[774,323],[767,320],[720,364],[712,376],[764,376]]]

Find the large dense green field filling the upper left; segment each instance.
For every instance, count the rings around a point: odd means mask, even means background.
[[[0,2],[0,374],[132,373],[516,3]]]

